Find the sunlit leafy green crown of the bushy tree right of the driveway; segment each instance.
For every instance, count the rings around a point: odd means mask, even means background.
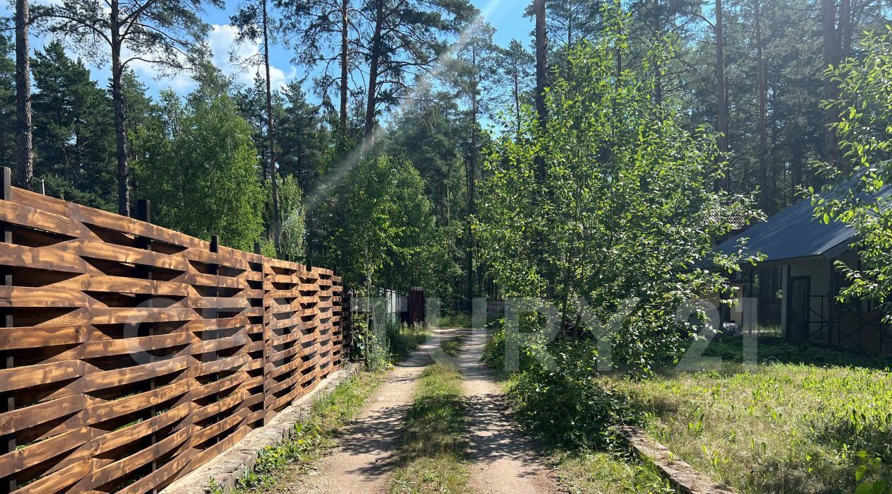
[[[475,231],[505,295],[548,299],[564,326],[584,322],[579,297],[598,320],[634,302],[614,359],[649,368],[690,337],[675,318],[681,303],[729,293],[721,273],[741,259],[716,254],[713,239],[756,213],[748,198],[714,191],[714,136],[681,126],[675,101],[652,104],[652,70],[617,75],[625,19],[607,14],[597,44],[569,50],[545,128],[527,111],[521,137],[500,140]]]

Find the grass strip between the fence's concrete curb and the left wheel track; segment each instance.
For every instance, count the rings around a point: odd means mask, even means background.
[[[293,436],[258,454],[252,471],[239,479],[237,490],[264,490],[271,487],[285,468],[306,472],[312,463],[335,444],[335,436],[363,408],[368,396],[381,384],[381,376],[362,372],[337,385],[331,393],[313,401],[310,415],[294,425]],[[219,486],[211,485],[212,492]]]

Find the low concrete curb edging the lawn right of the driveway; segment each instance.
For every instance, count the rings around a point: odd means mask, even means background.
[[[629,425],[615,427],[614,431],[620,437],[629,441],[629,445],[641,458],[650,460],[675,488],[685,494],[735,494],[736,490],[721,482],[715,482],[708,476],[699,473],[693,466],[681,458],[673,455],[672,451],[657,441],[653,441],[648,434]]]

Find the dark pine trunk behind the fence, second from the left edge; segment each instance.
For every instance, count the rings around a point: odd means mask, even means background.
[[[124,114],[124,68],[120,60],[120,10],[111,0],[111,102],[114,106],[115,158],[118,161],[118,214],[130,215],[130,169],[127,163],[127,121]]]

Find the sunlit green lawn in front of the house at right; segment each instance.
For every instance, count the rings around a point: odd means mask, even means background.
[[[880,458],[867,479],[892,470],[885,370],[773,364],[749,371],[728,362],[721,371],[603,380],[640,403],[652,437],[742,492],[852,492],[861,450]]]

